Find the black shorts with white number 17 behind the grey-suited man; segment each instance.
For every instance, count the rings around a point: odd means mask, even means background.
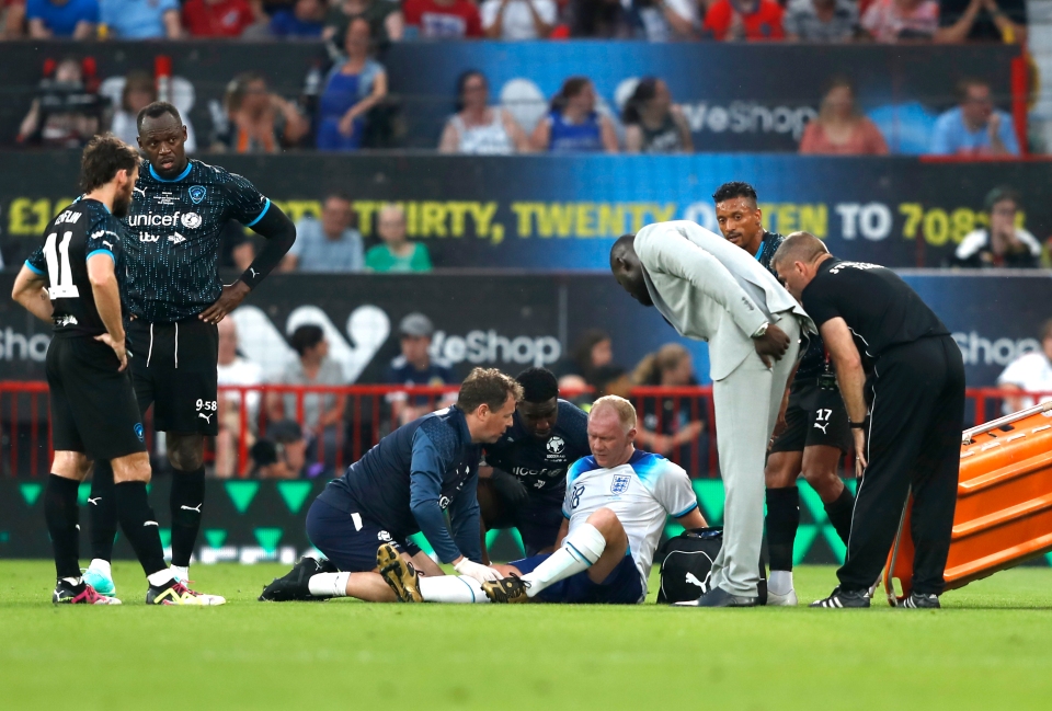
[[[853,443],[847,409],[839,391],[808,383],[789,392],[786,429],[775,439],[770,451],[803,451],[805,447],[826,445],[847,454]]]

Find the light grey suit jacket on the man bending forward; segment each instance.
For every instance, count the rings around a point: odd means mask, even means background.
[[[814,323],[754,256],[695,222],[648,225],[636,236],[647,290],[682,335],[709,342],[710,375],[729,376],[755,353],[752,334],[765,322],[794,317]]]

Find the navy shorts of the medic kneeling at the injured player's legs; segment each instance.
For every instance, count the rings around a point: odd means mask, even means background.
[[[307,538],[315,548],[345,573],[367,573],[376,569],[376,549],[391,543],[399,552],[415,555],[420,548],[398,540],[380,525],[362,514],[348,514],[316,498],[307,509]]]

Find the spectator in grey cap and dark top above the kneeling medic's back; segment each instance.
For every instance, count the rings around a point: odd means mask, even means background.
[[[431,354],[434,333],[434,324],[423,313],[413,312],[403,318],[398,324],[401,354],[391,360],[390,367],[384,374],[384,382],[432,387],[457,385],[459,380],[449,364]],[[451,398],[419,394],[410,399],[405,392],[392,392],[387,400],[391,403],[396,422],[405,424],[438,408],[453,404],[456,393],[453,393]]]

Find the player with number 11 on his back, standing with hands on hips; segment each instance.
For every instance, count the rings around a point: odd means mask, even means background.
[[[92,460],[105,460],[116,478],[116,516],[147,576],[147,604],[201,604],[164,565],[146,493],[150,458],[127,372],[117,218],[128,214],[138,164],[135,150],[113,136],[88,144],[81,163],[84,196],[47,226],[44,244],[26,260],[12,294],[35,317],[55,324],[47,349],[55,458],[44,492],[58,577],[54,603],[121,604],[80,574],[77,492]]]

